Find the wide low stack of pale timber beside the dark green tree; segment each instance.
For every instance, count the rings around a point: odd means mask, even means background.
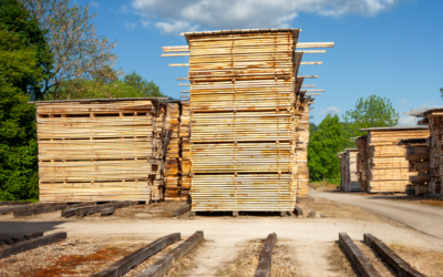
[[[41,202],[159,199],[161,99],[38,101]]]

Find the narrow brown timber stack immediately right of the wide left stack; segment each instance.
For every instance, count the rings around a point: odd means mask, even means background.
[[[181,193],[179,182],[179,103],[168,103],[165,119],[165,199],[177,199]]]

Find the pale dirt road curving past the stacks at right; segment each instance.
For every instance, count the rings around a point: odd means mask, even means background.
[[[443,207],[389,201],[384,196],[360,196],[349,193],[310,191],[309,195],[358,206],[420,232],[443,238]]]

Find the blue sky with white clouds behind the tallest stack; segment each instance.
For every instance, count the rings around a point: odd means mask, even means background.
[[[74,1],[73,1],[74,2]],[[359,98],[389,98],[403,115],[411,109],[442,106],[443,1],[441,0],[127,0],[83,1],[100,35],[116,40],[117,69],[153,80],[163,93],[178,99],[176,78],[187,68],[168,63],[186,58],[161,58],[162,47],[184,45],[181,31],[248,28],[301,28],[300,42],[333,41],[326,54],[306,54],[306,80],[324,89],[316,98],[312,122],[341,116]]]

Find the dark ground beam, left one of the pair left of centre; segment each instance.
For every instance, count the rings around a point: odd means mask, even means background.
[[[135,250],[122,258],[121,260],[114,263],[106,269],[92,275],[91,277],[120,277],[125,275],[131,270],[131,268],[136,265],[143,263],[148,257],[154,256],[156,253],[166,248],[167,246],[181,240],[181,234],[174,233],[168,236],[158,238],[157,240],[152,242],[151,244],[143,246],[138,250]]]

